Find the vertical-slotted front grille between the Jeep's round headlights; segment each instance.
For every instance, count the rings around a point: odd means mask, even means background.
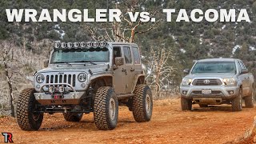
[[[68,83],[71,86],[75,86],[75,78],[75,74],[46,75],[46,83]]]

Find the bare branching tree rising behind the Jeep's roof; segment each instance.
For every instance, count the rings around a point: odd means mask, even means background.
[[[94,41],[106,40],[112,42],[134,42],[134,38],[137,34],[144,34],[150,30],[154,30],[162,22],[159,19],[157,22],[142,22],[139,18],[137,22],[130,21],[128,12],[139,11],[142,9],[141,0],[127,0],[123,4],[116,2],[115,8],[122,11],[121,22],[106,22],[102,23],[101,28],[94,27],[94,25],[86,24],[84,30],[86,34],[90,34]],[[158,7],[155,10],[151,10],[150,18],[159,14]]]

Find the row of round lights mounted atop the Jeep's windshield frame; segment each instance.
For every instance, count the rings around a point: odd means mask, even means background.
[[[78,48],[97,48],[97,47],[105,47],[105,41],[95,41],[95,42],[56,42],[54,43],[55,49],[78,49]]]

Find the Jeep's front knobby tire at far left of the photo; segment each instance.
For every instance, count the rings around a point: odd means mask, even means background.
[[[17,103],[17,121],[22,130],[38,130],[42,124],[43,113],[34,113],[35,105],[33,88],[22,90]]]

